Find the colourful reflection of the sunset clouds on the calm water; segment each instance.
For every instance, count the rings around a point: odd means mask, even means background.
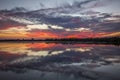
[[[92,70],[95,75],[97,68],[119,64],[119,52],[119,47],[103,44],[0,43],[0,70],[16,72],[25,69],[26,72],[30,69],[72,74],[76,70]]]

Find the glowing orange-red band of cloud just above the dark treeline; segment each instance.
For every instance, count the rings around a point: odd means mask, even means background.
[[[56,28],[56,27],[54,27]],[[80,30],[83,30],[81,28]],[[0,30],[0,39],[46,39],[46,38],[96,38],[96,37],[116,37],[120,36],[120,32],[92,32],[92,31],[62,31],[56,33],[54,31],[34,31],[28,32],[25,27],[12,27]]]

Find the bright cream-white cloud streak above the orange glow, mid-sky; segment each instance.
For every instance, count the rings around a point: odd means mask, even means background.
[[[80,28],[64,28],[62,26],[57,26],[57,25],[47,25],[47,24],[35,24],[35,25],[27,25],[26,26],[26,30],[27,31],[53,31],[57,30],[60,32],[61,31],[69,31],[69,32],[73,32],[73,31],[79,31],[79,32],[89,32],[92,31],[90,28],[84,28],[84,27],[80,27]]]

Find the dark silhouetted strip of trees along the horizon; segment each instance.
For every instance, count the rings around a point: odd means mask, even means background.
[[[51,42],[78,42],[78,43],[104,43],[104,44],[120,44],[120,37],[110,38],[61,38],[61,39],[4,39],[0,42],[31,42],[31,41],[51,41]]]

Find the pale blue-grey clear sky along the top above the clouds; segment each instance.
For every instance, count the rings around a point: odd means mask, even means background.
[[[45,8],[60,6],[64,3],[72,4],[74,1],[84,0],[0,0],[0,9],[12,9],[14,7],[25,7],[29,10],[41,8],[41,3]],[[89,0],[92,1],[92,0]],[[105,5],[96,7],[95,10],[103,12],[120,12],[120,0],[97,0],[99,4]]]

